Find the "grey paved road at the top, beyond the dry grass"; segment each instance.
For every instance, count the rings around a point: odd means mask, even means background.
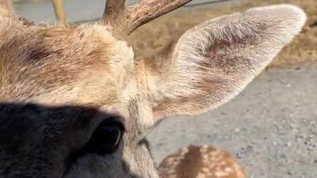
[[[31,0],[32,1],[32,0]],[[63,0],[68,22],[100,18],[103,14],[106,0]],[[127,0],[127,4],[138,0]],[[187,6],[227,0],[193,0]],[[239,2],[241,0],[233,0]],[[218,3],[219,4],[219,3]],[[221,4],[221,3],[220,3]],[[216,4],[217,5],[217,4]],[[25,16],[37,22],[49,21],[55,23],[55,14],[51,0],[37,0],[32,3],[17,5],[16,14]]]

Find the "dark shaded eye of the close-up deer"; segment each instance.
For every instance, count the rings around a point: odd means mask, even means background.
[[[111,154],[118,149],[123,131],[121,123],[104,121],[92,134],[85,150],[97,154]]]

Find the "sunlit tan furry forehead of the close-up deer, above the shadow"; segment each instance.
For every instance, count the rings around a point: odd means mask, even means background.
[[[109,104],[126,97],[133,50],[106,26],[30,25],[10,18],[9,24],[2,18],[6,27],[0,28],[2,99]]]

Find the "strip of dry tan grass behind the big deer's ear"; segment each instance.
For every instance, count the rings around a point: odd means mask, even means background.
[[[206,8],[196,8],[196,10],[182,8],[140,27],[131,35],[130,42],[138,52],[153,52],[170,41],[175,41],[186,30],[205,20],[273,3],[291,3],[301,6],[308,14],[308,21],[301,34],[282,49],[269,67],[317,62],[317,0],[250,0],[239,5],[226,2],[221,7],[209,5]]]

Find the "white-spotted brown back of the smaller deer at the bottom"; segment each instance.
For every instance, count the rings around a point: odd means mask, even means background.
[[[189,145],[163,159],[160,178],[247,178],[244,168],[225,150]]]

